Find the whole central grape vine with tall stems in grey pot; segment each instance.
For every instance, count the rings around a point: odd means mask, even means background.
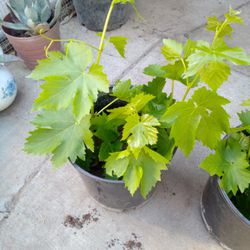
[[[130,1],[113,0],[111,10],[119,2]],[[164,39],[162,52],[168,64],[145,69],[152,81],[139,86],[118,81],[109,92],[100,65],[104,41],[113,43],[122,56],[127,42],[124,37],[105,39],[109,18],[95,60],[92,46],[72,39],[65,45],[66,53],[49,52],[30,75],[45,82],[33,106],[39,113],[25,151],[52,154],[55,167],[70,159],[95,199],[126,209],[152,194],[176,147],[185,155],[195,140],[216,147],[229,129],[229,115],[223,109],[229,101],[217,89],[230,75],[230,62],[249,65],[250,58],[243,49],[229,47],[223,40],[224,27],[212,27],[210,18],[209,27],[215,31],[212,45]],[[237,22],[238,12],[230,9],[229,18]],[[231,26],[223,26],[229,34]],[[164,92],[168,79],[172,81],[169,94]],[[174,99],[175,81],[186,86],[181,101]]]

